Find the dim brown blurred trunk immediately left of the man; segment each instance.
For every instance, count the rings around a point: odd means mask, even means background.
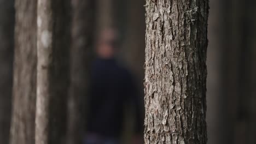
[[[71,83],[68,96],[67,142],[81,143],[84,130],[82,101],[86,96],[88,62],[93,29],[94,2],[72,1]]]

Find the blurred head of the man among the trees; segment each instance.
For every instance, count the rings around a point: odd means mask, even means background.
[[[113,28],[105,29],[97,40],[97,56],[103,59],[114,58],[118,47],[118,32]]]

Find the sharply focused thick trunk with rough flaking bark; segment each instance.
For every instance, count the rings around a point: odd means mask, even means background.
[[[207,19],[207,0],[147,0],[147,144],[207,142]]]

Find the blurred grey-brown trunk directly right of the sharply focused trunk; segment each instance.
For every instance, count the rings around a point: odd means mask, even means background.
[[[223,110],[222,110],[222,80],[221,64],[223,47],[221,44],[221,37],[223,35],[223,21],[222,21],[222,0],[210,1],[210,15],[208,26],[209,46],[207,50],[207,137],[208,144],[222,144],[224,130],[223,124]],[[224,38],[224,40],[226,40]]]

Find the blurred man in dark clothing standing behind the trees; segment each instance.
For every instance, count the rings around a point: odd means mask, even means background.
[[[85,144],[118,144],[123,131],[124,106],[136,113],[136,134],[142,132],[143,119],[133,77],[115,59],[118,34],[103,31],[97,41],[97,58],[90,74],[89,115]],[[133,142],[138,143],[138,142]]]

